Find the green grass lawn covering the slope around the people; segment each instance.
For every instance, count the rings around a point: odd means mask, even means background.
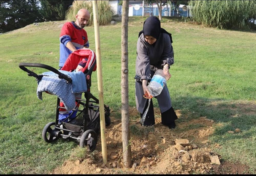
[[[135,106],[135,60],[138,32],[145,17],[129,17],[129,105]],[[0,173],[44,174],[69,158],[78,144],[58,140],[47,144],[41,138],[44,126],[55,120],[57,98],[43,93],[36,96],[37,83],[28,77],[20,62],[43,63],[58,68],[59,25],[44,22],[0,35]],[[256,33],[219,30],[163,18],[163,28],[172,33],[175,64],[167,86],[175,110],[181,110],[179,122],[207,116],[221,126],[211,136],[224,159],[248,165],[256,170],[255,107]],[[86,27],[90,48],[95,50],[94,28]],[[104,103],[121,114],[121,23],[101,26],[101,56]],[[33,68],[42,73],[45,70]],[[92,75],[91,92],[98,97],[97,74]],[[154,101],[157,107],[157,102]],[[241,105],[246,105],[246,108]],[[233,116],[238,114],[236,118]],[[131,117],[132,118],[132,117]],[[190,126],[190,128],[194,128]],[[241,129],[241,133],[227,131]],[[48,148],[50,151],[48,152]]]

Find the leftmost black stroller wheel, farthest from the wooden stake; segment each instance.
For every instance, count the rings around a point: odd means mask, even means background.
[[[58,139],[58,133],[59,131],[54,130],[55,122],[50,122],[45,125],[43,132],[42,132],[42,138],[45,140],[45,142],[50,143]]]

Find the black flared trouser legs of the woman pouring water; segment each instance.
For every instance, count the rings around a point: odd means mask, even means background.
[[[148,100],[146,103],[146,106],[143,110],[143,113],[146,111],[147,109],[147,104],[148,104]],[[142,118],[143,114],[141,114],[141,118]],[[178,119],[173,107],[171,107],[170,109],[168,109],[167,111],[161,113],[161,119],[162,119],[162,124],[165,126],[169,126],[172,125],[172,123]],[[143,123],[144,126],[152,126],[155,124],[155,116],[154,116],[154,107],[153,107],[153,101],[151,99],[150,101],[150,106],[148,108],[147,114],[146,114],[146,119]]]

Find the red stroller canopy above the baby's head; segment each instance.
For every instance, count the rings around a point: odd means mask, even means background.
[[[92,64],[94,62],[96,62],[96,55],[92,50],[90,50],[88,48],[78,49],[78,50],[72,52],[68,56],[65,64],[61,68],[61,70],[65,70],[65,71],[75,70],[77,68],[79,62],[81,62],[83,59],[88,60],[86,63],[86,66],[82,70],[82,72],[85,73],[91,68]],[[95,64],[93,71],[95,71],[96,68],[97,68],[97,66]]]

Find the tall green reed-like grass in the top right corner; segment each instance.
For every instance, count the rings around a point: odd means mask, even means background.
[[[192,20],[225,29],[256,29],[256,1],[189,1]]]

